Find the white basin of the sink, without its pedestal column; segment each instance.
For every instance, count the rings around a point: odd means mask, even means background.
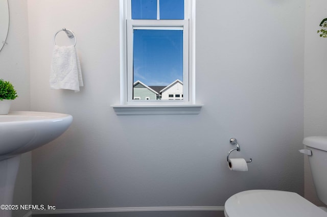
[[[71,125],[71,115],[46,112],[10,112],[0,115],[0,160],[51,142]]]

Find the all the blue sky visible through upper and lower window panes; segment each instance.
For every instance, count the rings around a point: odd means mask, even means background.
[[[183,0],[160,0],[160,19],[183,19]],[[132,0],[132,19],[156,19],[156,0]],[[167,86],[183,81],[183,31],[134,30],[133,82]]]

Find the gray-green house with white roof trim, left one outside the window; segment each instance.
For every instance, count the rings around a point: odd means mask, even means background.
[[[137,80],[133,84],[133,99],[156,100],[158,92]]]

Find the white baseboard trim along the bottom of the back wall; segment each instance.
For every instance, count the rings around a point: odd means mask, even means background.
[[[160,206],[160,207],[116,207],[88,209],[33,210],[32,214],[69,214],[96,212],[147,212],[147,211],[224,211],[223,206]]]

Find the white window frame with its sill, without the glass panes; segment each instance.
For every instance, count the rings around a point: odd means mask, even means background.
[[[199,114],[202,104],[195,103],[195,2],[184,0],[184,20],[132,20],[131,0],[120,0],[120,104],[111,105],[117,115]],[[158,6],[157,6],[158,7]],[[183,32],[183,99],[132,100],[133,29],[182,29]],[[188,44],[186,46],[186,44]],[[186,52],[185,52],[186,50]],[[188,70],[188,71],[186,71]],[[146,112],[144,112],[146,111]],[[161,112],[160,112],[161,111]],[[142,113],[142,114],[141,114]],[[144,114],[143,114],[144,113]]]

